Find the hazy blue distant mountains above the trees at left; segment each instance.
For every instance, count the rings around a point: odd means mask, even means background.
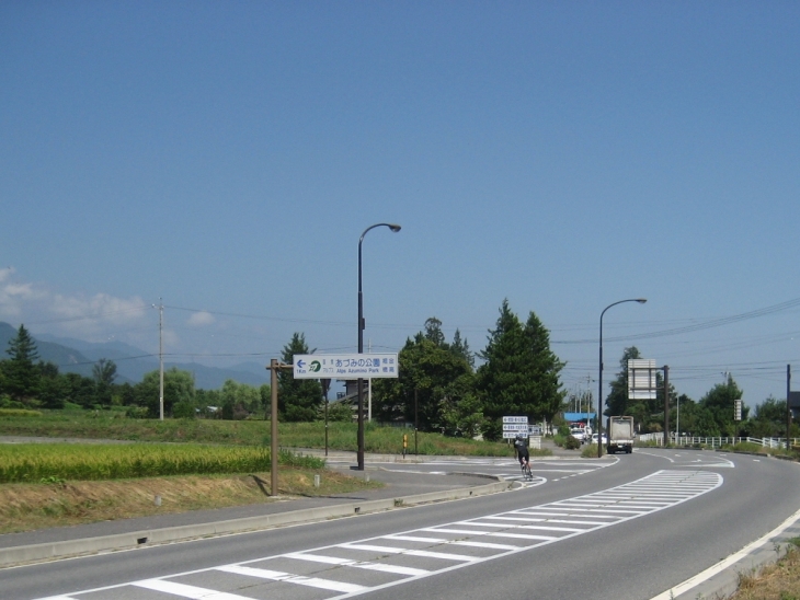
[[[0,321],[0,359],[8,358],[5,349],[9,341],[16,337],[16,330]],[[62,373],[80,373],[92,377],[92,367],[101,358],[116,364],[116,383],[138,383],[145,373],[158,369],[158,356],[122,342],[93,343],[70,337],[42,334],[33,336],[42,360],[58,365]],[[264,365],[242,362],[227,369],[206,367],[197,362],[168,362],[164,369],[178,367],[194,373],[195,386],[202,390],[217,390],[226,380],[261,385],[270,382],[270,373]]]

